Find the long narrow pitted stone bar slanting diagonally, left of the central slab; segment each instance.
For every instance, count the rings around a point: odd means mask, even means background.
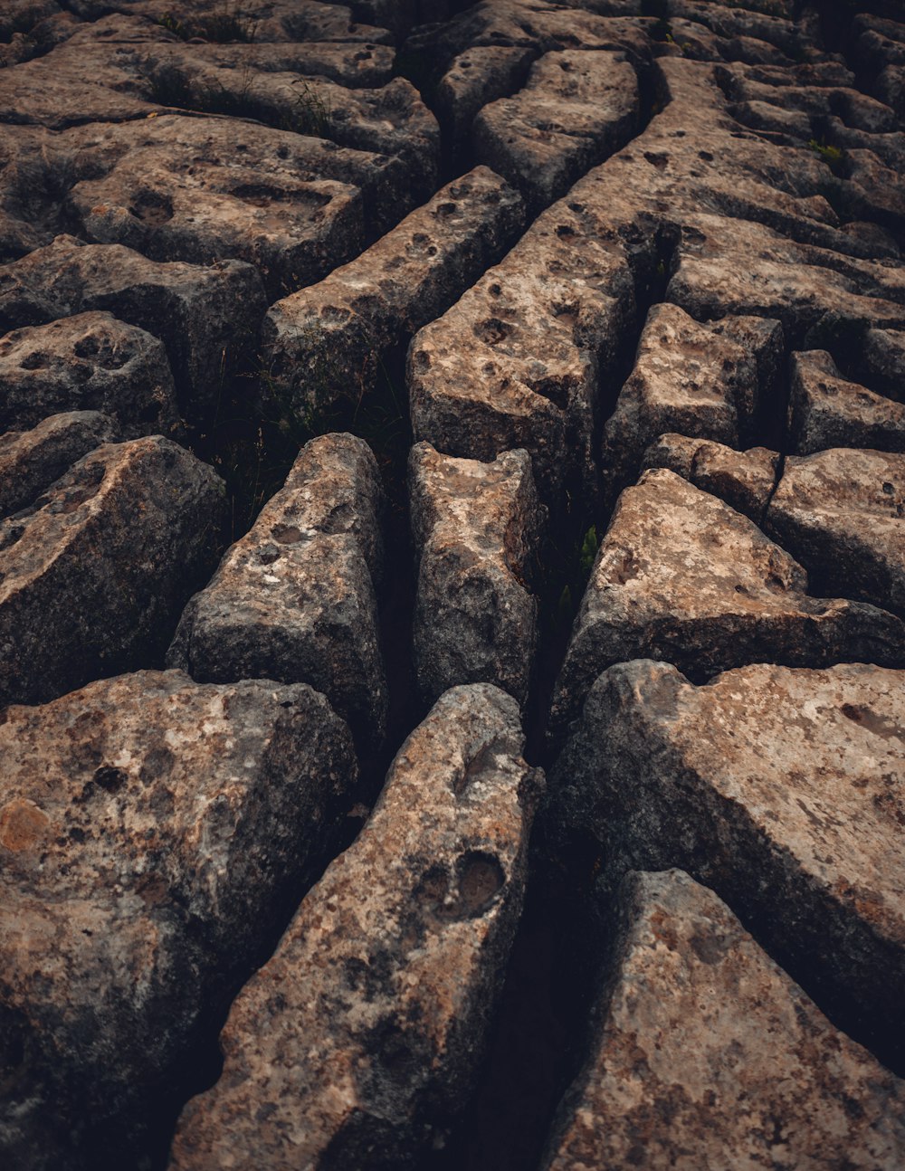
[[[358,402],[383,352],[450,306],[523,224],[519,194],[479,166],[265,322],[268,375],[299,408]]]

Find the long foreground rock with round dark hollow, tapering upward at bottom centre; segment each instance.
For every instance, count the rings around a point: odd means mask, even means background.
[[[454,687],[357,841],[233,1005],[171,1166],[411,1166],[467,1095],[522,890],[540,776],[515,701]]]

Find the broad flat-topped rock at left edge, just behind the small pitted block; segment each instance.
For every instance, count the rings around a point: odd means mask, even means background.
[[[255,269],[239,260],[158,263],[74,237],[0,267],[0,329],[87,310],[114,311],[159,337],[186,410],[199,412],[215,402],[225,351],[254,344],[265,295]]]

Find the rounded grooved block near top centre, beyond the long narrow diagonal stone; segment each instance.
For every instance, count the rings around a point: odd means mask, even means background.
[[[478,115],[475,157],[517,186],[536,211],[624,146],[639,110],[638,82],[624,54],[546,53],[519,94]]]

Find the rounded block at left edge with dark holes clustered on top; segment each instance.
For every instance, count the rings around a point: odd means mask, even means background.
[[[1,429],[84,410],[114,417],[124,439],[178,433],[163,343],[109,313],[78,313],[0,337]]]

